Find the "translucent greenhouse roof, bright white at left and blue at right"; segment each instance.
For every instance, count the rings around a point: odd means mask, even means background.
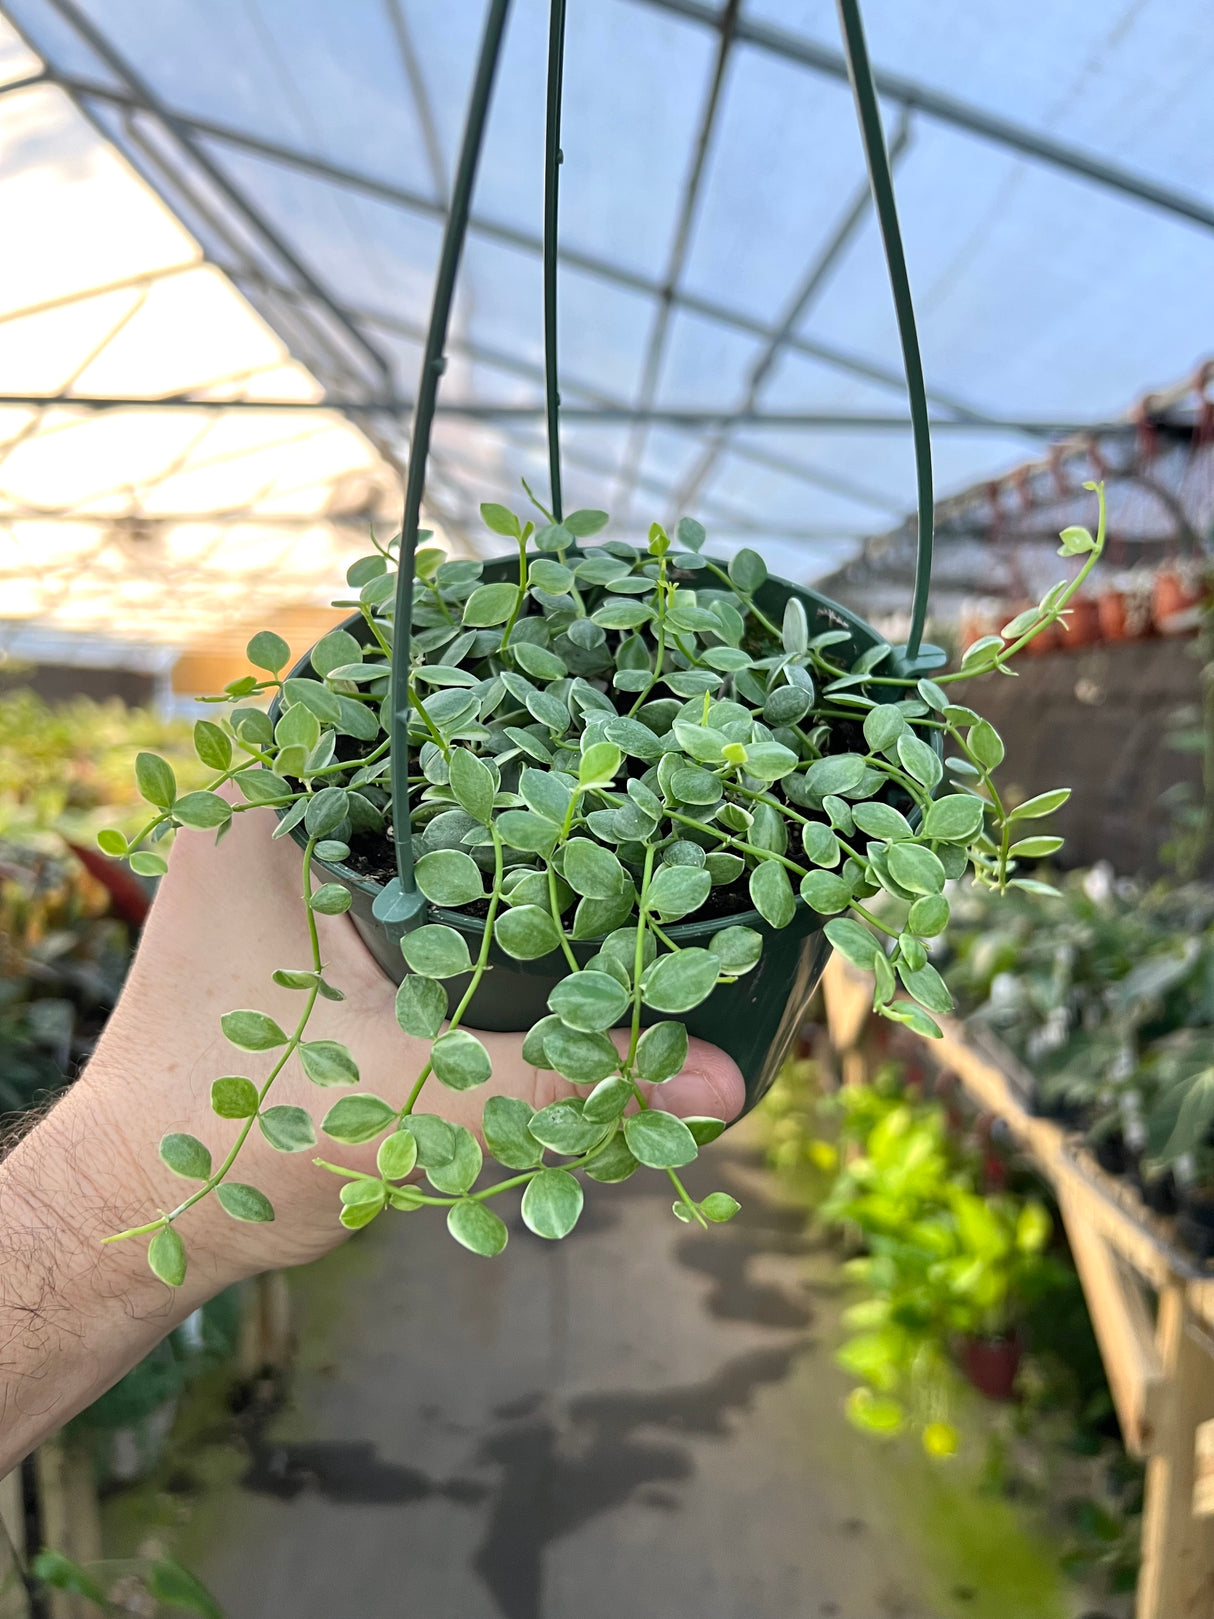
[[[206,465],[235,447],[264,487],[241,489],[249,521],[223,557],[248,573],[308,552],[308,573],[350,512],[390,507],[406,455],[482,5],[2,8],[24,42],[0,86],[0,288],[18,312],[0,411],[5,437],[24,434],[6,473],[36,453],[36,502],[68,507],[65,448],[92,440],[125,487],[185,455],[222,516],[236,497]],[[1211,346],[1214,29],[1203,0],[868,0],[866,21],[949,494],[1109,427]],[[515,0],[435,424],[431,515],[482,549],[481,499],[518,504],[520,476],[545,487],[545,49],[547,6]],[[913,460],[830,0],[579,0],[562,144],[568,504],[631,523],[691,510],[722,549],[761,542],[800,578],[889,529]],[[115,202],[120,173],[134,186],[117,154],[146,183],[141,232]],[[39,330],[53,376],[29,359]],[[47,393],[84,403],[34,410]],[[288,408],[188,403],[217,393]]]

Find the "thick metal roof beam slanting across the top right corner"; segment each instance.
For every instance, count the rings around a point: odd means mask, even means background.
[[[720,11],[712,5],[706,5],[704,0],[638,0],[638,3],[652,6],[657,11],[670,11],[675,16],[686,18],[690,23],[703,23],[706,28],[720,29]],[[847,83],[847,62],[842,52],[819,45],[816,40],[790,34],[782,28],[772,28],[769,23],[746,19],[738,21],[735,39],[738,44],[754,45],[785,62],[795,62],[803,68],[811,68],[814,73],[824,73],[832,79]],[[1083,147],[1039,134],[1036,130],[1015,123],[1012,118],[1000,118],[995,113],[984,112],[981,107],[958,100],[955,96],[947,96],[944,91],[934,91],[915,79],[903,78],[900,73],[876,73],[874,78],[881,94],[889,100],[898,102],[902,107],[910,107],[929,118],[936,118],[939,123],[965,130],[966,134],[992,141],[995,146],[1020,152],[1021,157],[1031,157],[1080,180],[1089,180],[1109,191],[1133,198],[1136,202],[1162,209],[1162,212],[1174,214],[1191,225],[1214,230],[1214,207],[1199,198],[1177,191],[1172,186],[1161,186],[1157,181],[1148,180],[1146,175],[1138,175],[1131,168],[1106,162],[1093,152],[1085,152]]]

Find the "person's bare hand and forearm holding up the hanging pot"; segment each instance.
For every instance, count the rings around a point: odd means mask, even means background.
[[[278,1153],[257,1130],[236,1177],[256,1185],[275,1209],[272,1222],[231,1219],[214,1196],[180,1217],[189,1266],[170,1290],[147,1269],[146,1240],[102,1239],[155,1219],[189,1195],[157,1158],[167,1132],[202,1140],[215,1162],[238,1125],[210,1107],[215,1078],[243,1072],[254,1081],[274,1054],[238,1054],[220,1017],[256,1005],[291,1026],[299,994],[272,973],[311,960],[301,905],[301,856],[272,839],[272,813],[243,810],[215,845],[183,832],[160,882],[121,1001],[96,1056],[36,1130],[0,1164],[0,1413],[15,1413],[0,1444],[16,1459],[29,1444],[96,1399],[176,1321],[222,1287],[259,1271],[317,1258],[348,1232],[338,1222],[340,1182],[314,1153]],[[395,986],[361,944],[348,916],[317,916],[325,978],[345,1001],[320,1001],[309,1039],[338,1039],[359,1064],[361,1090],[400,1107],[424,1067],[427,1043],[397,1025]],[[510,1094],[542,1107],[573,1093],[557,1073],[523,1062],[521,1035],[482,1035],[494,1075],[458,1093],[429,1080],[418,1111],[439,1112],[476,1130],[484,1103]],[[267,1101],[327,1111],[335,1094],[317,1091],[291,1059]],[[691,1041],[688,1064],[660,1086],[662,1107],[733,1119],[745,1086],[733,1060]],[[374,1171],[376,1148],[338,1148],[327,1158]],[[388,1216],[392,1217],[392,1216]],[[31,1381],[32,1378],[32,1381]]]

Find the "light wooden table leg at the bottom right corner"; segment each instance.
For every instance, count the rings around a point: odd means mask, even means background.
[[[1146,1468],[1136,1619],[1212,1619],[1214,1517],[1193,1512],[1196,1430],[1214,1417],[1214,1357],[1172,1282],[1159,1294],[1156,1342],[1167,1400]]]

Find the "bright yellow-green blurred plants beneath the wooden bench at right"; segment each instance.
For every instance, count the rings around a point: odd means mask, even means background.
[[[1131,1591],[1143,1467],[1049,1190],[963,1093],[926,1094],[898,1062],[838,1086],[800,1057],[759,1124],[767,1162],[847,1256],[835,1358],[856,1379],[853,1425],[970,1455],[978,1488],[1038,1506],[1070,1575]]]

